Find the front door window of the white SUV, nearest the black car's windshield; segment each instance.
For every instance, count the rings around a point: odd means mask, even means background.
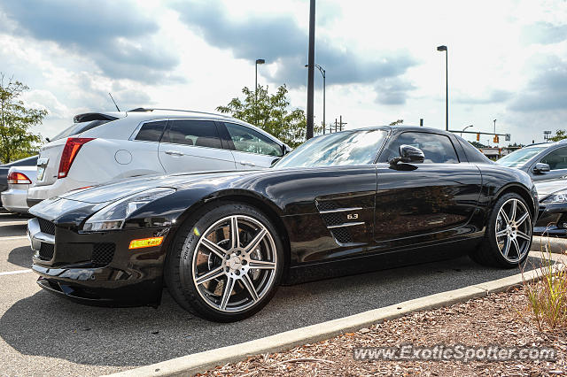
[[[234,123],[224,124],[229,131],[235,150],[259,155],[282,156],[282,147],[277,142],[251,128]]]

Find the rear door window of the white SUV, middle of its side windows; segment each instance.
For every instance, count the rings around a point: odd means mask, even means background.
[[[212,120],[169,120],[161,142],[222,149],[219,132]]]

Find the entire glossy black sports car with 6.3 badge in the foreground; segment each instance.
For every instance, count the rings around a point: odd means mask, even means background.
[[[197,148],[197,147],[196,147]],[[85,188],[35,205],[43,289],[90,304],[157,305],[164,286],[205,319],[258,312],[281,283],[470,252],[527,257],[530,177],[424,127],[309,140],[272,168]]]

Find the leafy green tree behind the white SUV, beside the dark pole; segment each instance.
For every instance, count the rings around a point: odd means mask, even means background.
[[[277,88],[276,94],[270,95],[268,87],[258,86],[258,103],[254,106],[255,93],[250,88],[243,88],[244,100],[232,98],[226,106],[218,106],[217,112],[229,113],[237,119],[244,120],[276,136],[296,148],[306,140],[307,119],[301,109],[290,110],[287,99],[288,90],[285,85]],[[322,127],[315,127],[315,132]]]

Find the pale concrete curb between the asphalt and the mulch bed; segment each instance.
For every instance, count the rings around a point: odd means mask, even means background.
[[[532,251],[530,256],[539,258],[540,252]],[[558,262],[563,261],[564,263],[563,256],[551,255],[551,258]],[[563,266],[563,264],[559,265],[559,268],[563,268]],[[516,275],[496,281],[488,281],[462,289],[454,289],[431,296],[420,297],[400,304],[394,304],[368,312],[361,312],[345,318],[333,319],[316,325],[297,328],[250,342],[234,344],[215,350],[206,350],[181,358],[173,358],[157,364],[146,365],[112,375],[115,377],[193,375],[195,373],[204,372],[207,369],[212,369],[217,365],[225,365],[227,363],[244,360],[249,356],[290,350],[298,345],[330,339],[336,335],[353,332],[362,327],[369,327],[384,321],[384,319],[396,319],[410,312],[439,308],[461,303],[471,298],[483,297],[491,293],[505,291],[521,285],[523,281],[534,281],[539,278],[540,271],[538,269],[524,274],[517,273]]]

